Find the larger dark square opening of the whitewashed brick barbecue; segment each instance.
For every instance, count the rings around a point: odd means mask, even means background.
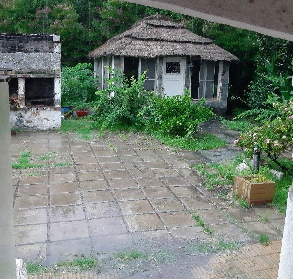
[[[25,105],[54,106],[53,78],[25,78]]]

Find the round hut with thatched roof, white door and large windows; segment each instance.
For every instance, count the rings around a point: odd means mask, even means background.
[[[205,97],[209,101],[221,101],[221,108],[226,108],[229,62],[239,60],[212,40],[162,15],[139,20],[91,51],[88,57],[95,59],[101,88],[107,86],[103,76],[109,76],[105,66],[135,77],[149,69],[147,89],[172,96],[188,88],[195,100]]]

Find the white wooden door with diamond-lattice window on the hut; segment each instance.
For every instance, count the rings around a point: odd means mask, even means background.
[[[185,61],[185,57],[163,58],[162,95],[174,96],[183,94]]]

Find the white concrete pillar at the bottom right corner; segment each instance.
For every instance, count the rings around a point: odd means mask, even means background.
[[[293,277],[293,185],[289,189],[278,279]]]

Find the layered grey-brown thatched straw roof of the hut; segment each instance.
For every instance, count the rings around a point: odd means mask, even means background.
[[[226,50],[198,36],[171,18],[162,15],[139,20],[127,31],[113,37],[88,54],[100,56],[130,56],[155,58],[157,56],[192,56],[212,61],[238,61]]]

